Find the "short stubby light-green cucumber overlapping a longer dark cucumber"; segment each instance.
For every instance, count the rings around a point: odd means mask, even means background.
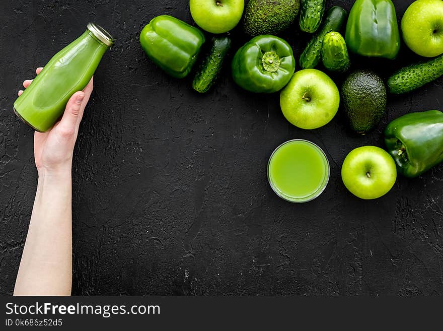
[[[322,44],[322,61],[327,70],[344,73],[350,67],[346,42],[335,31],[326,34]]]

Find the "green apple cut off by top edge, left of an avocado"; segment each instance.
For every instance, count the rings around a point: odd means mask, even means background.
[[[244,0],[190,0],[195,23],[210,33],[224,33],[235,28],[242,18]]]

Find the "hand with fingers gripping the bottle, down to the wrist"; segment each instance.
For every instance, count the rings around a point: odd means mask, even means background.
[[[37,75],[43,68],[37,68]],[[83,89],[74,93],[66,104],[61,120],[47,132],[34,134],[34,159],[38,173],[69,172],[72,165],[72,153],[76,144],[79,125],[83,117],[86,104],[94,88],[94,77]],[[23,82],[27,88],[32,80]],[[19,91],[19,96],[23,91]]]

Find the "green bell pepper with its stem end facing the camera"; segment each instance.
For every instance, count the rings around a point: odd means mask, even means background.
[[[281,90],[296,69],[292,48],[281,38],[260,35],[234,55],[232,77],[245,90],[273,93]]]

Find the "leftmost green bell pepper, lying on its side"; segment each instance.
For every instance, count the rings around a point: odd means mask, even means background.
[[[189,74],[203,43],[200,30],[168,15],[153,18],[140,33],[147,56],[175,78]]]

